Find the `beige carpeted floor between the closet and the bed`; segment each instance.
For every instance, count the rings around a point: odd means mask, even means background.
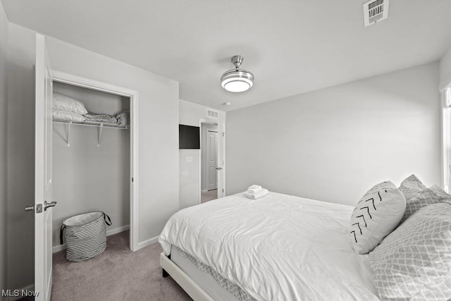
[[[86,262],[68,262],[66,250],[55,253],[51,300],[192,300],[161,276],[160,245],[131,252],[129,235],[109,236],[105,252]]]

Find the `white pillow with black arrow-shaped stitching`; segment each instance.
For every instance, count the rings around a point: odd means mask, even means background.
[[[366,192],[352,211],[350,238],[354,252],[373,250],[400,223],[405,209],[404,195],[390,181]]]

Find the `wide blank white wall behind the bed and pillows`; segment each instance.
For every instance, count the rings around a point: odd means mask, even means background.
[[[227,113],[227,194],[251,184],[354,205],[415,173],[440,183],[438,63]]]

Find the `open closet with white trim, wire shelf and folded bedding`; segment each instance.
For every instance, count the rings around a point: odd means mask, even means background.
[[[137,92],[57,71],[52,80],[54,104],[56,97],[81,103],[69,117],[54,105],[53,252],[66,248],[63,220],[89,211],[108,214],[106,235],[130,235],[130,250],[137,250]]]

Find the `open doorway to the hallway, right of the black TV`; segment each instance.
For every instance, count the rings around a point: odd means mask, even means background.
[[[200,202],[218,198],[218,124],[201,123],[201,196]]]

